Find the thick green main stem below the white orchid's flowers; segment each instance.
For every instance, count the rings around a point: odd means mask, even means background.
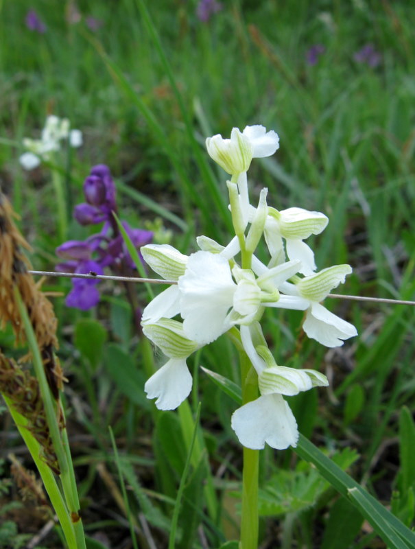
[[[246,353],[239,353],[242,378],[242,405],[257,399],[258,379]],[[239,549],[258,547],[259,450],[244,447],[242,471],[241,540]]]

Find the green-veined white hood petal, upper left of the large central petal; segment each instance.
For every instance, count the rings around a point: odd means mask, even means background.
[[[146,244],[140,248],[144,261],[165,280],[178,280],[185,274],[187,255],[169,244]]]

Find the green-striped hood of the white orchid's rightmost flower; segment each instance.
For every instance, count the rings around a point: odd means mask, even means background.
[[[300,296],[305,299],[322,301],[333,288],[337,288],[340,282],[344,283],[346,274],[351,274],[351,272],[350,265],[333,265],[333,267],[323,269],[300,280],[296,286]]]

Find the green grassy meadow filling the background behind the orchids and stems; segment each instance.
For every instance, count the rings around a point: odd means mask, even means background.
[[[196,235],[229,240],[226,174],[209,160],[204,139],[263,124],[278,132],[281,147],[252,163],[252,202],[266,186],[268,204],[277,209],[297,206],[329,216],[324,234],[310,243],[318,268],[353,266],[340,292],[415,299],[415,8],[387,0],[224,1],[202,23],[195,1],[146,4],[156,37],[134,0],[80,1],[78,23],[68,22],[70,2],[0,4],[0,181],[34,248],[34,268],[51,270],[56,263],[56,205],[47,168],[24,172],[18,158],[21,139],[36,137],[47,114],[69,117],[84,133],[83,147],[62,164],[69,211],[83,201],[91,166],[106,163],[117,179],[121,217],[136,227],[161,217],[171,244],[183,253],[196,249]],[[47,24],[45,34],[25,26],[31,7]],[[99,30],[88,30],[87,16],[102,21]],[[381,55],[375,68],[354,59],[368,43]],[[307,50],[315,44],[325,51],[309,65]],[[68,238],[87,234],[75,222],[69,225]],[[265,257],[265,250],[259,254]],[[68,292],[70,285],[49,280],[45,288]],[[137,292],[145,305],[145,290]],[[171,498],[185,463],[185,420],[176,412],[156,414],[145,399],[150,347],[132,334],[120,288],[104,286],[102,304],[91,314],[67,309],[62,297],[54,303],[88,533],[111,547],[129,546],[128,521],[102,472],[117,474],[111,425],[132,515],[144,517],[157,546],[166,546]],[[300,432],[329,455],[337,452],[342,466],[411,526],[414,308],[340,300],[327,305],[359,331],[339,349],[306,340],[299,313],[265,317],[264,333],[279,364],[319,369],[331,382],[328,390],[289,404]],[[97,338],[94,353],[82,342],[84,334]],[[1,345],[10,347],[7,332]],[[209,460],[192,465],[177,546],[215,548],[237,537],[232,494],[239,489],[241,448],[230,430],[235,404],[198,365],[237,381],[237,356],[222,338],[189,363],[195,377],[191,410],[202,402],[200,444]],[[5,458],[19,442],[8,420],[0,419]],[[348,455],[351,449],[358,455]],[[7,477],[8,465],[3,468]],[[262,548],[385,546],[291,451],[265,450],[261,471]],[[200,487],[208,477],[215,501],[206,508]],[[21,534],[38,528],[23,513],[14,518]],[[143,522],[136,526],[140,544],[151,547]]]

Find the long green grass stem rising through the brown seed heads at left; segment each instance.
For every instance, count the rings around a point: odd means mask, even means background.
[[[36,336],[33,331],[32,323],[29,320],[27,315],[26,307],[21,299],[19,290],[14,288],[14,295],[16,296],[16,302],[19,307],[19,312],[23,325],[25,326],[25,333],[27,337],[27,342],[29,344],[29,349],[32,351],[34,371],[38,379],[40,395],[42,396],[43,405],[45,406],[45,414],[47,419],[47,425],[49,427],[49,432],[51,435],[51,440],[54,445],[54,451],[56,457],[58,458],[58,464],[60,469],[60,480],[62,482],[62,489],[64,492],[64,498],[67,502],[69,513],[71,514],[71,519],[76,525],[75,531],[77,533],[78,548],[85,548],[85,539],[82,527],[82,520],[79,517],[79,500],[78,492],[76,490],[75,484],[75,474],[71,460],[67,459],[67,452],[69,452],[69,445],[67,443],[66,432],[62,434],[65,438],[65,444],[62,443],[61,433],[58,425],[58,408],[54,398],[51,395],[49,385],[47,384],[47,379],[45,375],[45,370],[43,368],[43,361],[40,356],[40,351],[36,341]],[[82,537],[80,535],[82,532]]]

